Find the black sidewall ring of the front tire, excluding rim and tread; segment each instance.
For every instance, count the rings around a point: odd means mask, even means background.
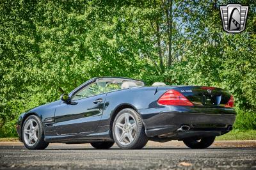
[[[28,144],[25,143],[23,132],[24,132],[24,126],[31,119],[35,120],[36,123],[38,124],[38,139],[37,139],[36,143],[33,146],[28,146]],[[36,146],[38,146],[38,144],[42,140],[42,123],[41,123],[41,121],[39,120],[39,118],[37,116],[35,116],[35,115],[28,116],[28,118],[24,121],[24,123],[22,125],[21,135],[22,135],[22,141],[23,141],[24,145],[26,146],[26,148],[28,148],[29,150],[35,150]]]

